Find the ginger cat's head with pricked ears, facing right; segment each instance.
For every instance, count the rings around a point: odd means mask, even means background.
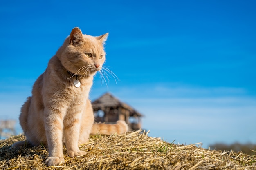
[[[76,75],[94,75],[105,61],[104,44],[108,33],[93,37],[75,27],[60,48],[62,65]]]

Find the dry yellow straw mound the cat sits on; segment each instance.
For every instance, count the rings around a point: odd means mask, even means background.
[[[205,150],[199,144],[176,145],[148,137],[143,131],[126,135],[91,136],[80,146],[88,153],[65,157],[61,166],[46,167],[44,146],[10,150],[23,135],[0,141],[0,169],[4,170],[255,170],[256,155]],[[63,152],[66,153],[65,147]]]

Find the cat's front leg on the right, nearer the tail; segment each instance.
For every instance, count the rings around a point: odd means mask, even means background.
[[[85,155],[85,151],[79,150],[78,139],[81,126],[81,112],[67,113],[64,120],[64,141],[69,157]]]

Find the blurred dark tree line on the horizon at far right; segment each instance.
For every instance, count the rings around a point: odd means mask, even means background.
[[[240,144],[238,142],[234,144],[222,144],[222,143],[216,143],[213,145],[210,145],[211,150],[222,150],[222,151],[229,151],[234,150],[235,152],[243,152],[248,155],[256,155],[256,144],[247,143],[247,144]],[[254,152],[252,151],[254,150]]]

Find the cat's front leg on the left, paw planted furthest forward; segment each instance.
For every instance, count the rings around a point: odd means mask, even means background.
[[[59,110],[45,108],[44,112],[45,132],[47,137],[49,156],[45,160],[47,166],[64,163],[63,155],[63,114]]]

